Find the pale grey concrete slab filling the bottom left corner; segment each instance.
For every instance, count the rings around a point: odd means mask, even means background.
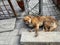
[[[0,33],[0,45],[18,45],[19,36],[17,35],[17,29],[11,32]]]

